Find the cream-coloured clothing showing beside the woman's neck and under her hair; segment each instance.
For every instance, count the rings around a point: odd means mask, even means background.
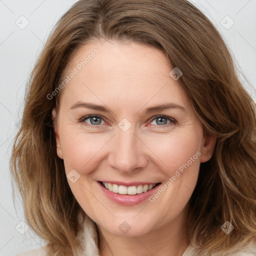
[[[79,251],[79,256],[98,256],[98,245],[97,245],[97,231],[94,222],[86,217],[83,223],[84,231],[77,234],[81,240],[81,244],[84,246]],[[195,256],[195,248],[191,244],[183,252],[182,256]],[[249,243],[246,249],[240,249],[236,253],[230,254],[230,256],[255,256],[256,255],[256,243]],[[44,247],[38,249],[29,250],[23,253],[16,254],[15,256],[53,256],[49,255]],[[200,255],[203,256],[203,255]],[[212,256],[221,256],[213,254]]]

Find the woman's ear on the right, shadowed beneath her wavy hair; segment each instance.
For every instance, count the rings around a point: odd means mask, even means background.
[[[202,145],[201,145],[201,156],[200,161],[206,162],[208,161],[212,154],[216,143],[216,135],[213,134],[206,134],[204,132]]]

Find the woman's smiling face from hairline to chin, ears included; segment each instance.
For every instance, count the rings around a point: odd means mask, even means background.
[[[113,41],[87,43],[66,67],[52,111],[57,154],[78,203],[112,234],[142,235],[184,216],[212,155],[214,138],[172,69],[159,49]]]

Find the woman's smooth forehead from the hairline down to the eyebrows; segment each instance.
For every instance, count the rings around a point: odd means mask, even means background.
[[[169,98],[184,101],[178,80],[169,75],[173,69],[161,50],[137,42],[92,41],[82,45],[69,61],[65,75],[75,73],[67,81],[66,96],[82,100],[122,98],[158,102]],[[97,99],[97,100],[98,100]]]

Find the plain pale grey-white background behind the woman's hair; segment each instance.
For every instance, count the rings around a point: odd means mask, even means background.
[[[24,220],[23,209],[13,205],[9,157],[15,125],[21,118],[24,88],[43,42],[58,18],[76,0],[0,0],[0,255],[13,255],[44,245],[28,229],[20,234],[15,226]],[[256,85],[256,0],[192,0],[215,24],[251,87],[244,87],[255,99]],[[20,29],[21,16],[29,24]],[[226,29],[222,22],[234,24]],[[225,21],[226,20],[226,21]],[[253,88],[254,87],[254,88]],[[18,224],[20,226],[20,224]]]

